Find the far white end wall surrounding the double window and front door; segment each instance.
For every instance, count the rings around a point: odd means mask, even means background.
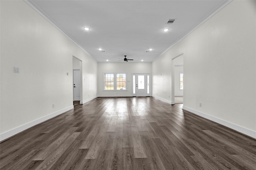
[[[98,63],[98,96],[132,96],[132,73],[150,73],[151,63]],[[126,73],[126,90],[103,90],[104,89],[104,73]],[[152,81],[151,81],[152,82]]]

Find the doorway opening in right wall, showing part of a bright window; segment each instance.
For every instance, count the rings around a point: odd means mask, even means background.
[[[172,59],[172,104],[183,104],[183,53]]]

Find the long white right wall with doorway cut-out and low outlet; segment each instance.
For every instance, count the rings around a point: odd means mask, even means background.
[[[153,95],[167,98],[159,74],[170,81],[170,59],[184,53],[184,109],[256,138],[255,21],[256,1],[228,4],[152,63]]]

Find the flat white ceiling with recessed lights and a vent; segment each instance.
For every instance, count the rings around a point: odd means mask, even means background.
[[[134,59],[129,62],[152,62],[227,1],[32,0],[27,3],[98,62],[124,62],[124,55]],[[169,19],[175,21],[166,24]],[[169,30],[164,32],[165,28]],[[146,52],[149,49],[152,51]]]

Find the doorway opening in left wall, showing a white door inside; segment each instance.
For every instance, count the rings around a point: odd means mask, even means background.
[[[73,101],[82,102],[82,61],[73,56]]]

